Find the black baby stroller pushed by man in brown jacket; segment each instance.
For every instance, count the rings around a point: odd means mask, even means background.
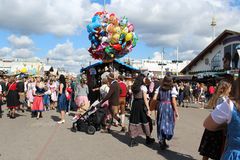
[[[96,131],[101,130],[106,111],[104,108],[101,108],[99,103],[97,105],[94,104],[73,123],[73,132],[82,131],[93,135]]]

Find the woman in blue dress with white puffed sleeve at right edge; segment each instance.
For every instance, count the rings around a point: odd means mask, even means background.
[[[239,83],[237,79],[236,83]],[[227,125],[226,145],[221,160],[240,159],[240,98],[239,85],[234,93],[236,104],[230,99],[216,106],[213,112],[205,119],[204,127],[210,131],[217,131]]]

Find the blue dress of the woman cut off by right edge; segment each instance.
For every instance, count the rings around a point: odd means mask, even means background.
[[[226,148],[221,160],[240,159],[240,111],[233,107],[232,119],[227,127]]]

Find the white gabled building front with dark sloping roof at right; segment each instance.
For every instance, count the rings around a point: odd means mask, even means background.
[[[222,32],[183,70],[183,74],[214,76],[237,73],[240,69],[239,54],[236,47],[240,44],[240,33],[230,30]]]

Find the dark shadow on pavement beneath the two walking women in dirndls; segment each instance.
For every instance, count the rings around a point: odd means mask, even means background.
[[[116,138],[117,140],[119,140],[120,142],[122,142],[122,143],[124,143],[126,145],[129,145],[130,137],[127,134],[123,135],[123,134],[120,134],[118,131],[112,131],[111,135],[114,138]],[[143,144],[146,147],[149,147],[149,148],[157,151],[157,153],[159,155],[163,156],[167,160],[173,160],[173,159],[176,159],[176,160],[196,160],[192,156],[187,155],[187,154],[174,152],[174,151],[171,151],[169,149],[167,149],[167,150],[160,150],[159,144],[156,143],[156,142],[153,145],[146,145],[145,144],[145,138],[143,138],[143,137],[137,137],[136,140],[137,140],[137,142],[139,144]]]

